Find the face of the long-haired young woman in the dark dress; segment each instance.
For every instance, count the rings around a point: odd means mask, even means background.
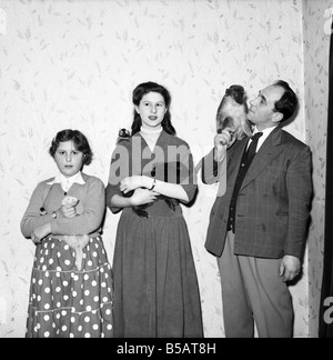
[[[142,128],[157,129],[161,127],[167,112],[164,98],[159,92],[149,92],[142,97],[135,111],[142,120]]]

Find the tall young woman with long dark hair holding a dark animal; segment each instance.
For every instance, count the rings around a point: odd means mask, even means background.
[[[139,84],[131,137],[112,156],[107,204],[112,212],[122,210],[113,260],[114,334],[120,338],[203,336],[180,207],[196,191],[193,160],[188,143],[174,136],[170,101],[162,86]]]

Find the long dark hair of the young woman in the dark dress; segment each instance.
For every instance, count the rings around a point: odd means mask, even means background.
[[[151,81],[140,83],[133,90],[133,97],[132,97],[133,103],[139,107],[141,99],[149,92],[158,92],[164,98],[167,112],[165,112],[164,119],[162,121],[162,128],[165,132],[168,132],[170,134],[175,134],[175,130],[171,123],[171,113],[170,113],[171,96],[170,96],[170,92],[164,87],[160,86],[159,83],[151,82]],[[142,126],[141,117],[134,109],[134,120],[132,123],[132,136],[140,131],[141,126]]]

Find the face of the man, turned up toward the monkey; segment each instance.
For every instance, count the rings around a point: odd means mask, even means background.
[[[261,128],[270,128],[282,120],[281,113],[275,111],[275,102],[284,93],[284,89],[279,86],[270,86],[261,90],[258,97],[250,101],[248,119]]]

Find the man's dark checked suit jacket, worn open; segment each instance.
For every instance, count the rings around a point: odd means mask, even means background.
[[[248,138],[228,150],[226,191],[210,214],[205,248],[221,257],[229,206]],[[302,258],[312,196],[310,148],[278,127],[264,141],[243,180],[236,202],[234,253]],[[202,180],[213,183],[213,151],[203,158]]]

